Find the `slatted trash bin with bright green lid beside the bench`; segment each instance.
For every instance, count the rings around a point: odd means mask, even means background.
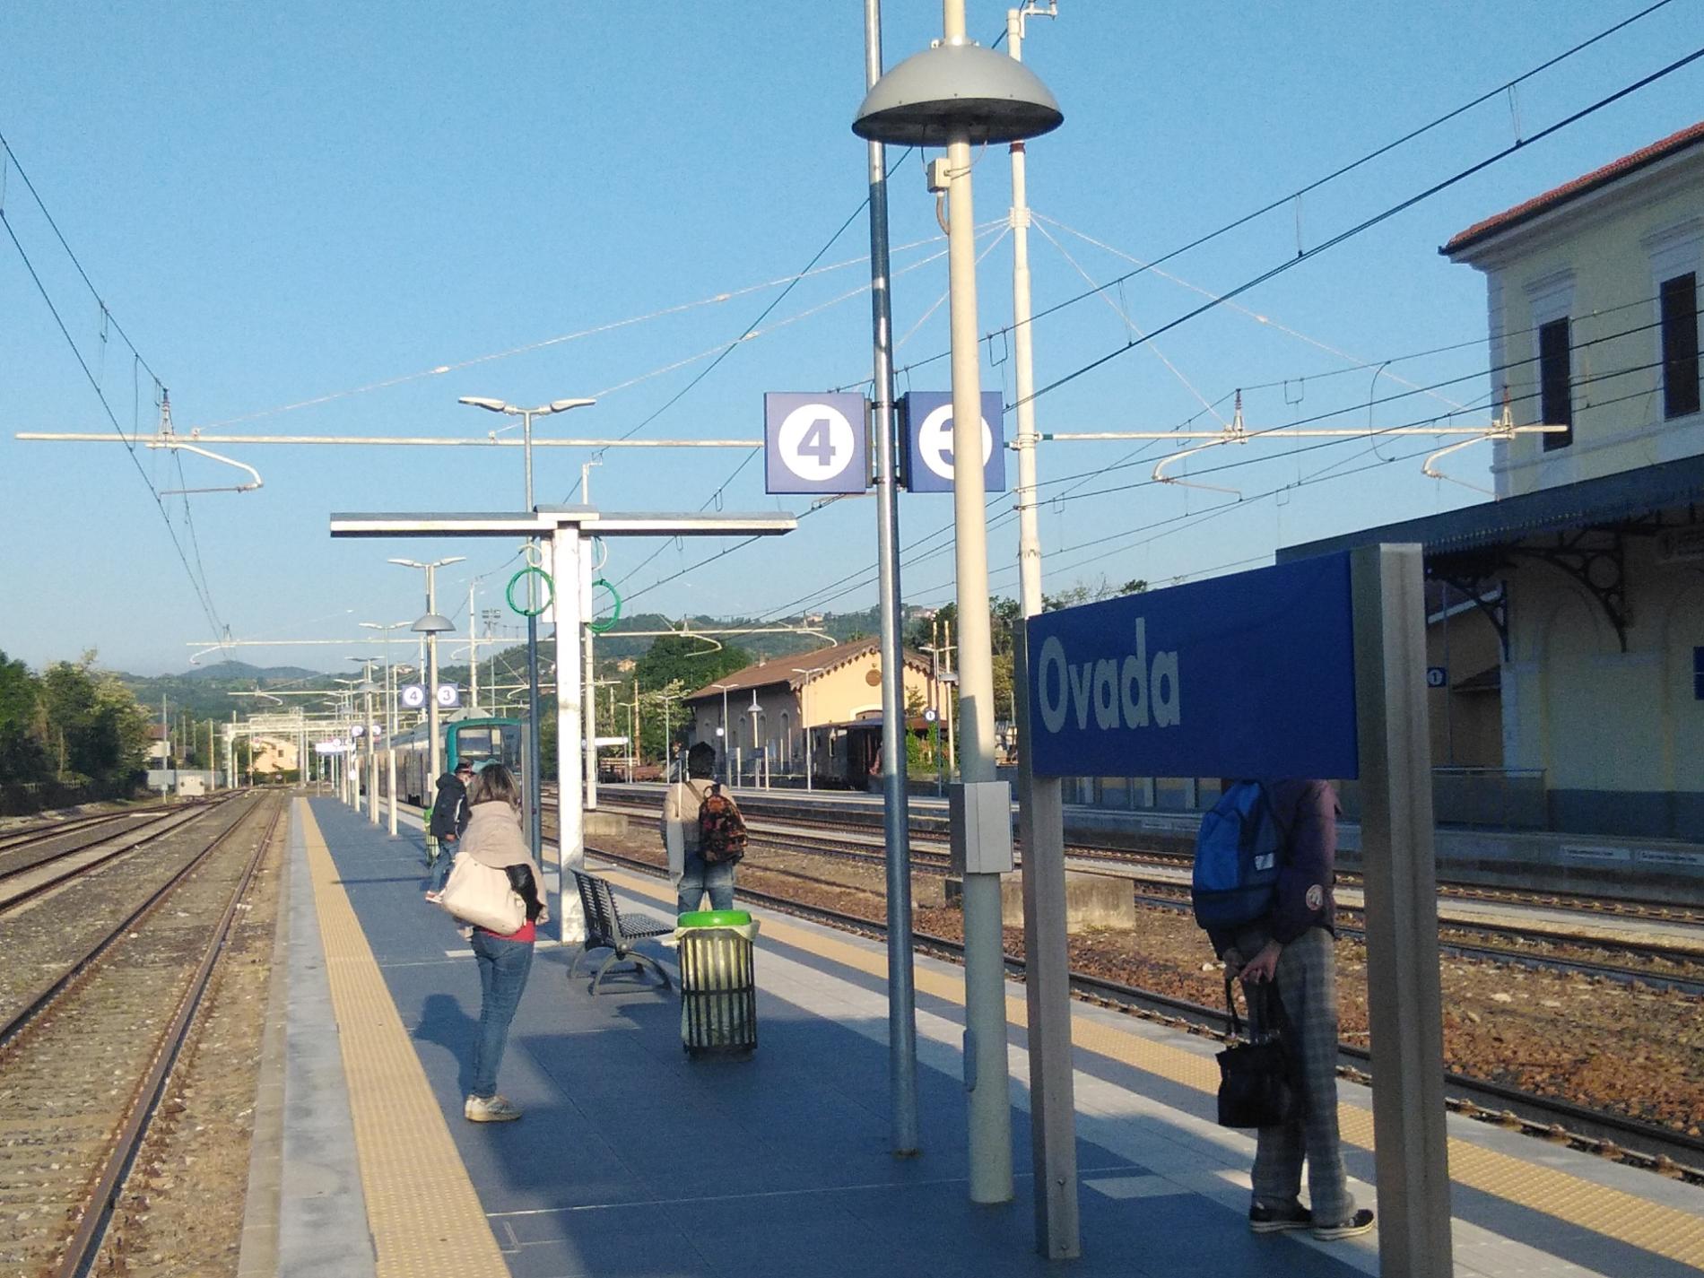
[[[680,1045],[687,1055],[750,1056],[757,1050],[757,975],[745,910],[680,915]]]

